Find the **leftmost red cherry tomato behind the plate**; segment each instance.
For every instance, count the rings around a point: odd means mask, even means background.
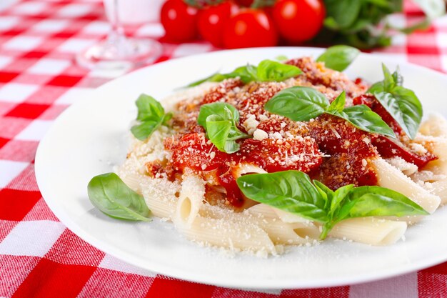
[[[197,9],[182,0],[168,0],[161,7],[160,21],[166,39],[188,41],[197,36]]]

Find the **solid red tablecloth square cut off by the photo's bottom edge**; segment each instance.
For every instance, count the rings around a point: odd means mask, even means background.
[[[76,297],[95,270],[93,266],[58,264],[44,258],[12,297]]]

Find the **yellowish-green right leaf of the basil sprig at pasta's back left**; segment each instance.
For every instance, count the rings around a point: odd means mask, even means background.
[[[283,81],[302,73],[303,71],[294,65],[283,64],[273,60],[263,60],[258,65],[256,76],[258,81]]]

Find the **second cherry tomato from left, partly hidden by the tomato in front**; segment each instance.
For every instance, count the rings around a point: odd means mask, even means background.
[[[231,2],[223,2],[209,6],[199,11],[197,26],[201,36],[214,46],[224,46],[224,29],[231,14],[236,13],[238,7]]]

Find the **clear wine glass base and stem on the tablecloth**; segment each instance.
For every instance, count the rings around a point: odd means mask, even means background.
[[[104,7],[109,11],[111,31],[106,39],[76,55],[79,65],[88,69],[127,70],[151,63],[161,55],[162,48],[158,41],[126,36],[119,18],[121,1],[128,0],[103,0]]]

